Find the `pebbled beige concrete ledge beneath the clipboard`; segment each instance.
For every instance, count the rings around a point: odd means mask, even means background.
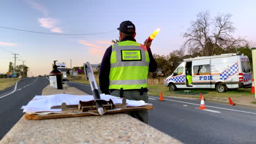
[[[72,90],[69,91],[69,90]],[[74,91],[73,91],[74,90]],[[46,87],[45,94],[81,92]],[[83,93],[83,92],[82,92]],[[76,94],[76,93],[75,93]],[[83,93],[85,94],[85,93]],[[124,113],[103,116],[27,120],[24,116],[0,143],[181,143]]]

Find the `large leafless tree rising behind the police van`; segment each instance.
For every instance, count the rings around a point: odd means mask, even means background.
[[[219,54],[240,46],[245,40],[232,37],[235,27],[230,21],[231,16],[218,14],[211,19],[209,11],[201,11],[197,14],[197,20],[191,22],[191,27],[183,34],[187,39],[184,45],[190,47],[190,52],[197,51],[203,56]]]

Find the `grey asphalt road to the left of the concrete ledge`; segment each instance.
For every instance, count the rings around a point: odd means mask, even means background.
[[[0,140],[24,115],[21,106],[27,105],[35,95],[41,95],[47,85],[49,81],[45,77],[28,77],[17,83],[15,91],[15,86],[0,91]]]

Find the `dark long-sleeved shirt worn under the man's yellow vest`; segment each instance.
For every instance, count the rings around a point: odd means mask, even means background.
[[[136,41],[132,37],[125,37],[121,39],[120,41],[125,41],[125,40],[131,40],[131,41]],[[148,50],[148,55],[149,55],[149,72],[154,72],[158,65],[156,64],[156,61],[152,55],[151,49],[147,48]],[[101,62],[101,67],[100,67],[100,89],[102,93],[109,94],[109,73],[110,73],[110,57],[112,53],[112,46],[109,46],[106,52],[104,53],[104,56],[102,58]]]

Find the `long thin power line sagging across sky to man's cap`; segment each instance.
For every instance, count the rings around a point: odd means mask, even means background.
[[[5,28],[5,29],[12,29],[15,31],[22,31],[22,32],[30,32],[30,33],[40,33],[40,34],[54,34],[54,35],[95,35],[95,34],[104,34],[104,33],[112,33],[115,31],[109,31],[109,32],[102,32],[102,33],[87,33],[87,34],[65,34],[65,33],[44,33],[44,32],[37,32],[37,31],[28,31],[28,30],[24,30],[24,29],[17,29],[17,28],[10,28],[10,27],[2,27],[0,26],[0,28]]]

